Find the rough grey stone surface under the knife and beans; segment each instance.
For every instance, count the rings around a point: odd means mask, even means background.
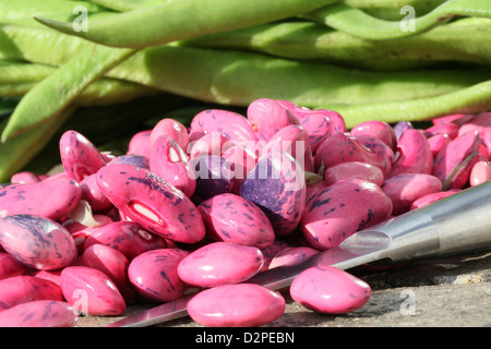
[[[490,327],[491,251],[419,261],[384,270],[351,269],[372,288],[362,308],[343,315],[314,313],[287,290],[285,314],[264,327]],[[155,305],[155,304],[154,304]],[[130,305],[125,314],[151,305]],[[84,316],[79,327],[99,327],[122,318]],[[199,327],[191,318],[158,326]]]

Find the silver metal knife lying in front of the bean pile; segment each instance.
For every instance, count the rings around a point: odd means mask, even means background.
[[[441,198],[356,232],[333,249],[303,263],[259,273],[246,282],[277,290],[288,287],[304,269],[332,265],[349,269],[373,262],[414,260],[491,249],[491,181]],[[117,321],[107,327],[144,327],[188,315],[187,304],[197,291]]]

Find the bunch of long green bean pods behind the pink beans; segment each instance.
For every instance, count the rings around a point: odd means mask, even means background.
[[[0,1],[0,181],[81,108],[159,94],[348,128],[489,110],[490,34],[489,0]]]

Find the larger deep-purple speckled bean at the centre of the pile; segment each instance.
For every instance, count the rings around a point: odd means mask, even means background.
[[[287,153],[267,152],[248,173],[240,195],[264,210],[277,236],[291,233],[306,206],[301,166]]]

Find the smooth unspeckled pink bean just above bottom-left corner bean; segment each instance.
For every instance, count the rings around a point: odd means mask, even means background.
[[[86,266],[65,267],[60,275],[63,297],[77,311],[89,315],[121,315],[124,299],[106,274]]]

